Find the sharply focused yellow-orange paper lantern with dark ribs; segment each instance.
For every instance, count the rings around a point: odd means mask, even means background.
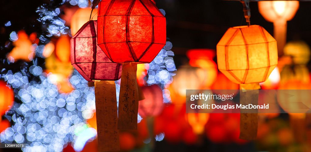
[[[277,65],[276,40],[259,25],[229,28],[217,44],[217,62],[234,83],[266,81]]]

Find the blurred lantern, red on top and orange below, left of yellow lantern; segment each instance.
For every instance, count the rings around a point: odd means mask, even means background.
[[[202,89],[209,88],[216,80],[217,65],[213,61],[215,55],[215,50],[212,49],[190,49],[187,52],[187,57],[190,59],[189,64],[203,69],[202,74],[199,74],[201,83],[204,86]]]

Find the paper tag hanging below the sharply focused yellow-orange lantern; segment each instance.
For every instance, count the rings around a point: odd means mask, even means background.
[[[259,90],[240,92],[240,104],[258,104]],[[247,110],[250,113],[244,113]],[[251,110],[251,111],[250,111]],[[257,137],[258,109],[241,109],[240,114],[240,139],[254,140]]]

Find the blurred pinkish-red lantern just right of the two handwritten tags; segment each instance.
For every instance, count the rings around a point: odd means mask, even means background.
[[[163,94],[158,85],[142,86],[145,99],[139,101],[138,113],[143,118],[157,116],[163,109]]]

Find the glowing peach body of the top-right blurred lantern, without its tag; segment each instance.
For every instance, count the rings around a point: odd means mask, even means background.
[[[276,20],[290,21],[299,8],[299,1],[260,1],[260,14],[269,22]]]

